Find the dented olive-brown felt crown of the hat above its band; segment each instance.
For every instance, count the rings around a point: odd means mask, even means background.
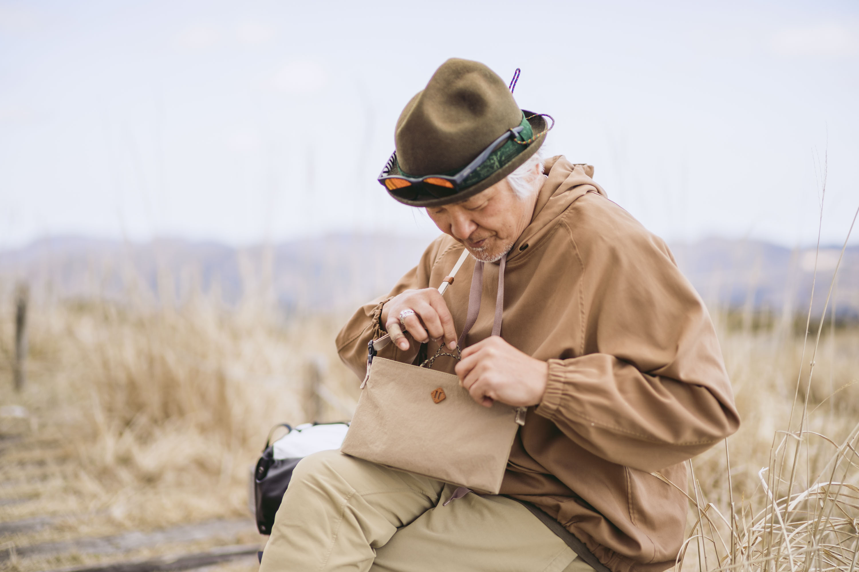
[[[399,116],[399,166],[417,177],[460,169],[521,120],[513,94],[494,71],[448,59]]]

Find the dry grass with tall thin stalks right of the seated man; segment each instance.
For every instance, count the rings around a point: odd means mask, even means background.
[[[825,170],[821,225],[824,196]],[[815,267],[800,339],[784,345],[779,343],[783,332],[761,339],[750,328],[741,336],[722,335],[745,424],[722,451],[689,463],[693,520],[678,557],[680,569],[856,569],[859,332],[837,334],[833,311],[827,336],[825,317],[857,215],[859,208],[829,281],[823,312],[813,324]],[[830,351],[823,352],[823,345]],[[738,359],[734,352],[745,356]],[[828,363],[822,359],[827,354]],[[770,436],[769,449],[762,448]],[[761,462],[763,455],[766,462]],[[722,482],[708,483],[713,476]]]

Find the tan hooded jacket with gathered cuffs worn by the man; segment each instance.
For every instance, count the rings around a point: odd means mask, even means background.
[[[672,566],[685,533],[683,461],[734,433],[740,418],[704,303],[661,238],[606,198],[593,168],[546,161],[531,224],[504,273],[502,336],[549,363],[539,406],[510,451],[501,493],[555,516],[615,572]],[[389,296],[358,310],[338,334],[340,357],[364,376],[381,337],[381,305],[437,287],[462,252],[442,235]],[[466,319],[469,258],[445,298]],[[490,335],[497,264],[484,269],[480,315],[466,339]],[[430,342],[430,355],[436,352]],[[393,344],[381,357],[411,363]],[[434,369],[454,373],[455,362]],[[659,475],[677,485],[667,484]]]

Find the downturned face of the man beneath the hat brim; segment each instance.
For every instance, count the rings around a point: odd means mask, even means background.
[[[531,222],[537,194],[522,200],[503,179],[462,202],[428,207],[436,226],[449,234],[472,256],[495,262],[508,252]]]

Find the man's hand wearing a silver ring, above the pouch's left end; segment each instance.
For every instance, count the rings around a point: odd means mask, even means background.
[[[448,304],[436,288],[423,290],[406,290],[395,298],[388,300],[381,308],[381,322],[385,324],[387,333],[393,343],[401,350],[409,349],[409,340],[403,334],[399,324],[399,314],[404,310],[414,310],[414,314],[405,317],[405,329],[411,337],[421,343],[433,340],[444,340],[448,349],[456,348],[456,330],[454,318],[450,315]]]

